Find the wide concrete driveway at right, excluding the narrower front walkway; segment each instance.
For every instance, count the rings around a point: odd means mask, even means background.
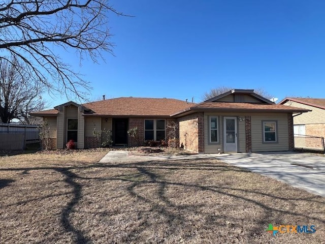
[[[306,153],[222,154],[225,163],[325,197],[325,157]],[[281,189],[279,189],[281,191]]]

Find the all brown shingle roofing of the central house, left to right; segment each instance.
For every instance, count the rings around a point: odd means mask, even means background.
[[[82,104],[86,109],[85,115],[96,116],[171,116],[188,111],[256,111],[256,112],[307,112],[310,110],[285,106],[281,104],[251,104],[203,102],[200,104],[169,98],[114,98]],[[35,116],[53,116],[56,109],[32,112]]]

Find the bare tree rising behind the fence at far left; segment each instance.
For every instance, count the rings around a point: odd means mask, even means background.
[[[16,59],[0,59],[0,118],[4,123],[14,118],[23,124],[39,123],[28,113],[44,109],[41,93],[40,84]]]

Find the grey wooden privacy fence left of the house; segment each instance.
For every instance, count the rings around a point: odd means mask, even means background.
[[[38,126],[0,123],[0,150],[23,150],[39,139]]]

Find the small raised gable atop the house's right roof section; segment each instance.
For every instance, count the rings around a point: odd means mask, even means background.
[[[249,96],[252,99],[249,103],[264,103],[264,104],[274,104],[272,101],[254,93],[253,89],[232,89],[229,92],[220,94],[214,98],[208,99],[204,102],[234,102],[242,103],[247,102],[244,99],[244,96]],[[256,102],[254,102],[254,100]]]

